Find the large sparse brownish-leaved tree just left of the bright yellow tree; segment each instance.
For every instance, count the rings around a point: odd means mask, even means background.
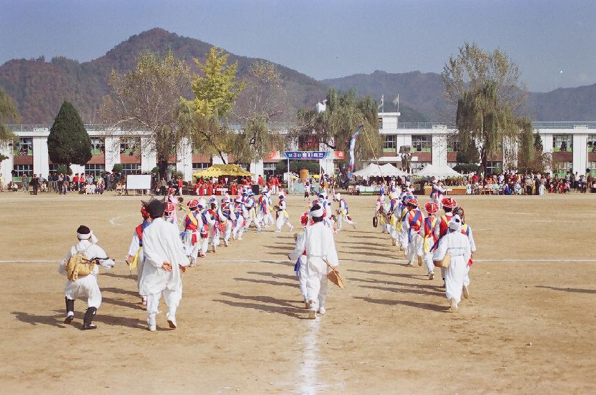
[[[168,157],[185,137],[174,127],[181,93],[188,87],[190,68],[169,49],[163,57],[144,51],[137,56],[135,70],[109,77],[111,92],[104,98],[101,115],[106,123],[121,127],[142,139],[146,150],[155,152],[160,177],[167,172]]]

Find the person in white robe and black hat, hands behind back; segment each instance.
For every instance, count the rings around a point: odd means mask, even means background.
[[[150,331],[156,329],[159,303],[164,295],[168,307],[167,321],[175,329],[176,309],[182,298],[182,272],[190,264],[180,239],[178,228],[162,218],[164,205],[154,200],[146,205],[153,219],[143,235],[145,266],[141,292],[147,295],[147,323]]]

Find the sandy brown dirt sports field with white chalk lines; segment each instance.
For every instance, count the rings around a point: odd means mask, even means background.
[[[178,329],[162,305],[148,332],[123,264],[139,198],[0,194],[0,393],[596,392],[596,196],[458,197],[478,247],[458,313],[440,276],[372,228],[375,199],[347,196],[358,229],[337,235],[346,290],[325,316],[305,319],[292,233],[268,229],[190,269]],[[305,202],[288,200],[298,225]],[[99,276],[95,331],[79,330],[80,301],[63,324],[56,268],[79,224],[117,261]]]

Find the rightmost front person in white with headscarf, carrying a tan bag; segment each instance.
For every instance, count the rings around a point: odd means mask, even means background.
[[[445,269],[445,295],[450,300],[451,310],[457,311],[464,288],[466,266],[470,260],[470,241],[461,234],[461,219],[454,215],[449,222],[450,233],[438,242],[433,261],[441,261],[445,254],[451,255],[451,264]]]

